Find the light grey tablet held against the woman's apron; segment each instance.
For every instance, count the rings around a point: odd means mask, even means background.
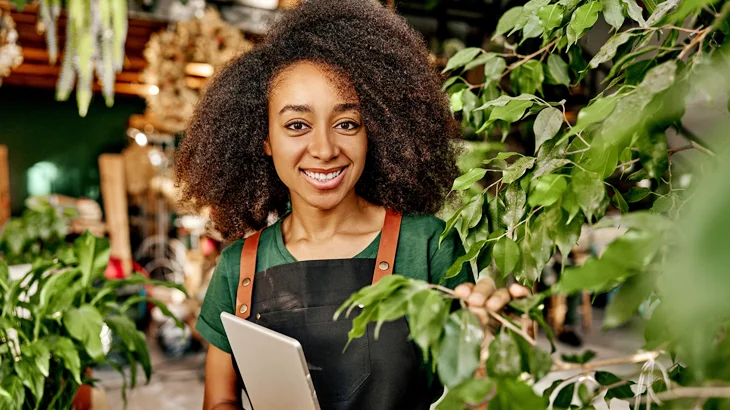
[[[226,312],[221,320],[253,410],[319,410],[296,339]]]

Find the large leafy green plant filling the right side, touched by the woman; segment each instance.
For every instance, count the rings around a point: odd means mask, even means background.
[[[413,340],[449,388],[439,408],[591,409],[613,398],[633,409],[730,406],[730,306],[727,264],[720,263],[730,263],[720,234],[730,223],[730,190],[720,182],[720,170],[725,178],[730,170],[722,161],[727,156],[716,156],[682,123],[688,100],[722,99],[730,89],[730,2],[643,6],[634,0],[530,0],[503,14],[497,48],[466,48],[449,60],[444,88],[471,150],[460,161],[470,167],[453,186],[464,194],[463,205],[444,235],[456,229],[466,250],[447,277],[469,263],[475,277],[498,283],[513,278],[532,287],[556,253],[566,259],[584,224],[625,229],[600,257],[562,269],[551,289],[512,302],[510,309],[550,336],[545,297],[619,287],[605,326],[622,325],[640,305],[649,306],[646,350],[607,360],[593,354],[558,359],[510,315],[489,313],[502,325],[495,333],[482,329],[463,301],[450,311],[456,296],[438,285],[393,277],[354,294],[342,307],[363,308],[351,338],[362,336],[370,322],[408,315]],[[586,56],[579,40],[600,18],[615,33]],[[518,37],[519,43],[509,42]],[[461,75],[474,67],[483,67],[480,84]],[[604,89],[569,121],[571,105],[562,97],[581,93],[597,72],[605,74]],[[475,151],[488,153],[482,147],[498,147],[513,130],[522,131],[512,145],[523,145],[523,152],[475,161]],[[670,132],[686,144],[669,148]],[[675,160],[686,150],[698,151],[691,157],[698,166]],[[724,166],[713,176],[717,164]],[[716,185],[695,191],[688,177]],[[640,180],[645,182],[637,186]],[[609,207],[618,216],[606,217]],[[603,370],[618,363],[640,364],[638,378]],[[555,381],[542,397],[534,392],[535,382],[563,370],[574,375]]]

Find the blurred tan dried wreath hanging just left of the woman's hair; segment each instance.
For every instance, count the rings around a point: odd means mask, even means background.
[[[155,92],[145,96],[147,107],[156,123],[168,131],[185,129],[200,96],[199,87],[186,81],[191,64],[212,74],[232,58],[253,48],[241,31],[224,22],[215,9],[203,17],[181,22],[172,30],[152,34],[144,57],[147,67],[142,81]]]

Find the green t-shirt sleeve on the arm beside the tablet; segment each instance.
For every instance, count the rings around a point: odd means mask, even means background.
[[[229,249],[223,251],[218,266],[216,266],[213,272],[208,291],[205,294],[205,299],[203,299],[203,306],[200,309],[200,316],[198,316],[195,330],[208,343],[224,352],[231,353],[231,345],[228,343],[228,337],[226,336],[226,331],[221,321],[221,312],[233,314],[235,309],[235,295],[231,294],[229,277],[238,272],[231,271],[230,263],[228,262],[228,253],[230,252],[226,251],[229,251]]]

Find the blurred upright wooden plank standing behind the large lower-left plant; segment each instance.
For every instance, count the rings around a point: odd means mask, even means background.
[[[122,261],[125,276],[132,274],[132,245],[129,240],[127,187],[124,178],[124,157],[121,154],[99,156],[101,194],[104,199],[111,256]]]

